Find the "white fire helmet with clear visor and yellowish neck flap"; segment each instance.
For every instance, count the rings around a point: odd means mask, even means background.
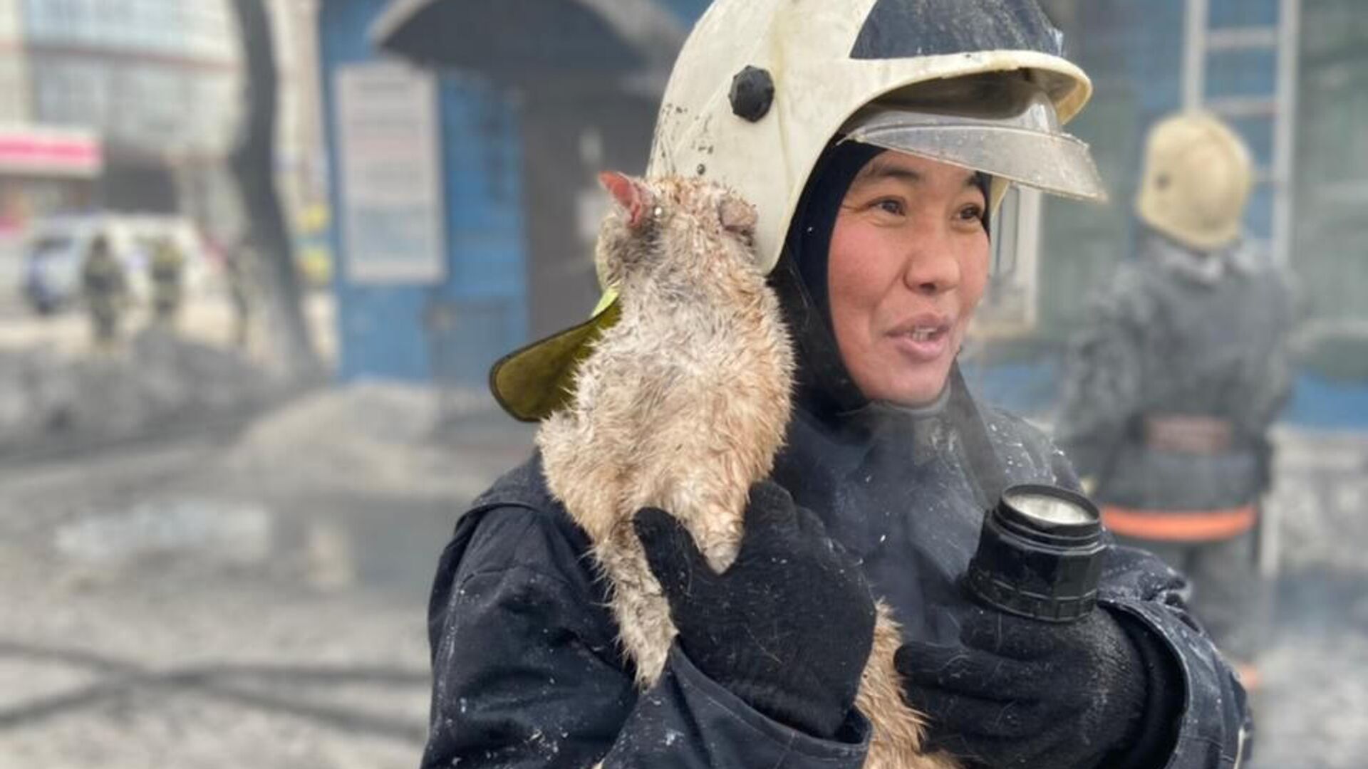
[[[1034,0],[714,0],[674,63],[647,177],[702,175],[758,211],[761,265],[837,137],[1085,200],[1105,193],[1060,130],[1092,94]],[[564,405],[575,364],[616,322],[594,316],[494,365],[495,398],[535,420]]]

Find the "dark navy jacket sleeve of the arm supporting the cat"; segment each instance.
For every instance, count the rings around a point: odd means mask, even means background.
[[[446,547],[428,608],[432,706],[424,768],[855,769],[848,742],[778,724],[676,649],[637,692],[587,540],[547,510],[472,510]]]

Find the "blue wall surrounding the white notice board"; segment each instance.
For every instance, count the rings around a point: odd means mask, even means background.
[[[387,0],[328,0],[319,12],[328,163],[339,168],[334,112],[338,66],[373,62],[368,40]],[[369,285],[347,274],[338,174],[330,190],[338,255],[338,379],[439,379],[483,386],[488,365],[527,339],[521,148],[505,94],[471,78],[439,79],[446,278]]]

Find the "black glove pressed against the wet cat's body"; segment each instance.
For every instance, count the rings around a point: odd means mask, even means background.
[[[670,514],[646,508],[633,524],[694,665],[770,718],[834,738],[873,646],[874,601],[817,516],[757,483],[721,575]]]

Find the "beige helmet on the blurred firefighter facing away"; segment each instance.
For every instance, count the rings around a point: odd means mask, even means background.
[[[1209,114],[1183,112],[1149,131],[1135,212],[1187,248],[1215,250],[1239,238],[1252,187],[1239,135]]]

